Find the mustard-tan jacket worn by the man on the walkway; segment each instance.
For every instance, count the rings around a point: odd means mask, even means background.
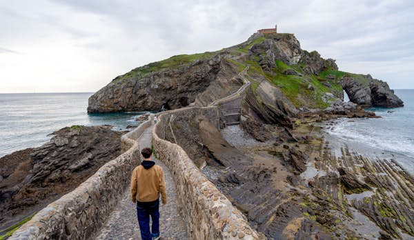
[[[147,202],[155,201],[161,193],[162,203],[167,203],[166,183],[164,181],[164,171],[158,165],[145,169],[137,166],[132,171],[131,176],[131,199],[135,201]]]

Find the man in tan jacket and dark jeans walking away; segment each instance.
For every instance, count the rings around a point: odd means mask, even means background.
[[[141,151],[144,161],[132,171],[131,199],[137,203],[137,216],[142,240],[159,239],[159,194],[167,203],[166,183],[162,168],[151,161],[152,150]],[[150,216],[152,231],[150,231]],[[152,234],[151,234],[152,232]]]

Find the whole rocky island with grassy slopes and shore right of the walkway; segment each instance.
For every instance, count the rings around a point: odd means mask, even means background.
[[[90,97],[88,112],[183,108],[163,114],[157,134],[181,146],[263,238],[407,239],[413,177],[348,148],[335,156],[323,131],[328,119],[403,105],[386,82],[338,70],[294,34],[257,32],[135,68]]]

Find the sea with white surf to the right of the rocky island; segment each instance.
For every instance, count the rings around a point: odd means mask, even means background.
[[[403,108],[368,108],[380,119],[342,119],[327,130],[359,153],[395,159],[414,174],[414,90],[395,90]]]

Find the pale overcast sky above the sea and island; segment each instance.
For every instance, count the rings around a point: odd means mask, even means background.
[[[219,50],[259,28],[414,88],[414,1],[0,0],[0,92],[95,92],[175,54]]]

